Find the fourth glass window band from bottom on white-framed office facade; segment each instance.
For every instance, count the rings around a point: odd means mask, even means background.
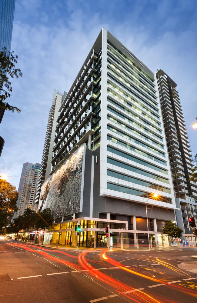
[[[153,164],[150,164],[150,163],[145,162],[143,160],[140,160],[139,158],[136,158],[136,157],[134,157],[132,155],[129,155],[128,153],[126,153],[124,151],[120,151],[120,150],[118,150],[118,149],[116,149],[114,147],[111,147],[111,146],[108,146],[107,150],[110,151],[110,152],[112,152],[112,153],[114,153],[114,154],[116,154],[116,155],[119,155],[119,156],[121,156],[123,158],[129,159],[129,160],[134,161],[136,163],[139,163],[139,164],[142,164],[142,165],[147,166],[149,168],[152,168],[152,169],[154,169],[156,171],[160,171],[160,172],[162,172],[165,175],[168,175],[168,170],[165,170],[165,169],[163,169],[161,167],[158,167],[156,165],[153,165]]]

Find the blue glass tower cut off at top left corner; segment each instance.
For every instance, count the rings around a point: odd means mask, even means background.
[[[0,51],[2,51],[4,46],[7,48],[7,52],[10,51],[14,22],[14,9],[15,0],[0,0]],[[2,122],[4,112],[5,108],[0,107],[0,123]],[[4,144],[2,137],[0,137],[0,144]]]

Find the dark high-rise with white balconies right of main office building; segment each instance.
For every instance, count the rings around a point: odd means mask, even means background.
[[[197,219],[197,184],[189,180],[192,153],[176,83],[162,70],[156,72],[165,136],[176,194],[176,217],[183,236],[193,235],[189,217]]]

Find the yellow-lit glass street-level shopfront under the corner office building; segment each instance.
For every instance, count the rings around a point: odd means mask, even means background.
[[[54,247],[92,247],[105,248],[107,241],[110,247],[148,246],[148,233],[143,231],[129,232],[126,221],[102,222],[94,220],[79,220],[81,232],[77,235],[75,225],[78,220],[62,222],[55,226],[53,231],[45,231],[44,245]],[[107,221],[107,220],[106,220]],[[112,221],[112,220],[110,220]],[[109,226],[109,240],[106,237],[105,226]],[[167,235],[159,232],[150,232],[150,245],[169,246]]]

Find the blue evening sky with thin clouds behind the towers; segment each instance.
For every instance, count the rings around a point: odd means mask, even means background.
[[[68,91],[102,26],[152,71],[176,83],[193,154],[197,131],[197,5],[185,0],[16,0],[12,46],[23,77],[9,99],[0,171],[18,188],[23,162],[40,162],[53,90]]]

